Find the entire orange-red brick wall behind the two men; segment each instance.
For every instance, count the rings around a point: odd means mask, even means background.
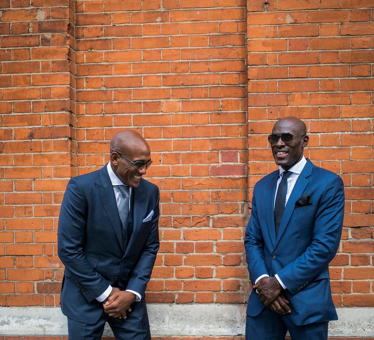
[[[245,302],[247,202],[295,115],[346,185],[336,305],[373,306],[373,4],[321,3],[0,0],[0,305],[58,306],[63,191],[124,128],[161,189],[148,301]]]

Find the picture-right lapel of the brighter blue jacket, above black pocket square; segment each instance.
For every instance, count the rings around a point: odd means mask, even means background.
[[[290,195],[290,197],[287,201],[287,204],[284,208],[284,212],[283,212],[283,216],[282,216],[282,220],[281,220],[281,225],[279,226],[279,231],[278,231],[278,235],[277,235],[277,239],[276,239],[274,247],[277,246],[280,238],[282,237],[282,235],[283,235],[283,233],[284,233],[284,231],[287,227],[288,222],[290,221],[292,213],[294,212],[294,209],[295,209],[296,201],[299,199],[299,197],[303,193],[305,187],[309,183],[308,177],[312,173],[312,168],[313,168],[313,164],[308,159],[307,163],[304,166],[304,169],[301,171],[301,173],[299,175],[299,178],[297,179],[297,181],[295,183],[295,186],[294,186],[294,188],[291,192],[291,195]]]

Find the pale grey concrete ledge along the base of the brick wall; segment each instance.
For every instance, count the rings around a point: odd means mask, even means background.
[[[154,336],[238,336],[245,330],[243,304],[149,304]],[[337,308],[329,324],[331,337],[374,337],[374,308]],[[58,307],[0,307],[1,335],[67,335],[66,317]],[[105,329],[111,335],[111,329]]]

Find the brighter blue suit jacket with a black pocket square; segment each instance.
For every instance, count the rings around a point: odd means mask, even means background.
[[[339,245],[344,213],[343,181],[314,166],[302,170],[284,209],[277,237],[274,199],[279,170],[255,186],[250,221],[245,231],[245,254],[252,284],[262,274],[278,274],[290,301],[294,324],[337,320],[331,297],[329,262]],[[252,290],[247,314],[264,308]]]

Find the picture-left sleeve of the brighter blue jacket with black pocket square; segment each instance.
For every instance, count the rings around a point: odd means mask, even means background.
[[[258,210],[256,205],[256,187],[253,192],[251,217],[245,228],[245,259],[248,265],[252,285],[255,280],[263,275],[269,274],[265,264],[265,255],[263,252],[264,241],[259,222]]]

